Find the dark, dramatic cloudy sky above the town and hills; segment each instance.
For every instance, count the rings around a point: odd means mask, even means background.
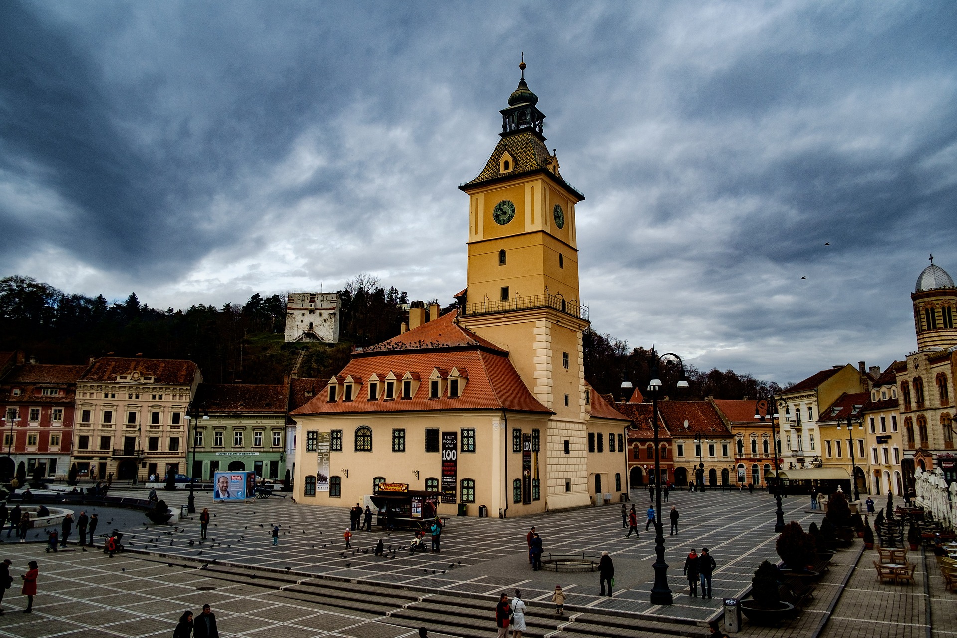
[[[596,330],[779,382],[914,348],[927,253],[957,275],[949,1],[3,2],[0,275],[451,301],[521,52]]]

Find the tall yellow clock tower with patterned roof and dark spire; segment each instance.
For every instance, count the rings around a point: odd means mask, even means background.
[[[549,462],[555,472],[546,494],[557,509],[589,502],[590,397],[582,358],[589,320],[578,291],[575,236],[575,207],[585,196],[548,152],[545,114],[525,82],[524,61],[520,69],[519,86],[501,110],[499,143],[479,176],[459,187],[469,196],[469,228],[458,323],[507,349],[525,385],[554,412],[545,440],[549,461],[559,463]]]

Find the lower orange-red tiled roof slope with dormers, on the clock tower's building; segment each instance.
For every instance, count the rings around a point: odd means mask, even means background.
[[[385,351],[376,353],[375,356],[365,355],[366,353],[364,353],[364,356],[354,357],[345,366],[340,376],[345,378],[351,374],[367,379],[372,374],[378,373],[379,378],[383,379],[389,373],[389,370],[394,370],[396,376],[400,378],[409,371],[417,372],[423,379],[428,380],[436,366],[449,370],[453,367],[459,369],[466,367],[468,368],[468,381],[457,398],[450,398],[446,392],[439,398],[430,399],[428,381],[419,385],[418,391],[415,392],[412,399],[384,400],[380,398],[370,401],[367,391],[360,391],[352,401],[329,403],[323,393],[305,406],[293,410],[292,414],[416,412],[501,409],[502,407],[518,412],[552,413],[551,410],[540,404],[532,396],[515,367],[512,366],[506,356],[501,354],[476,347],[468,350],[449,347],[438,348],[429,352],[420,352],[416,348],[412,348],[411,351]],[[396,395],[398,395],[398,391]]]

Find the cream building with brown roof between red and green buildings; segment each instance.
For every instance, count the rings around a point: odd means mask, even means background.
[[[195,363],[102,357],[77,382],[73,457],[80,476],[145,480],[186,470]]]

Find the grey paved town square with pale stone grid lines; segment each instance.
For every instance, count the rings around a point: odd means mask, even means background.
[[[184,493],[165,496],[174,506],[186,501]],[[633,498],[641,519],[649,504],[648,495],[636,492]],[[777,561],[773,543],[774,501],[760,493],[678,492],[671,495],[669,503],[663,503],[666,519],[673,505],[681,517],[678,536],[666,535],[669,583],[675,596],[675,605],[668,606],[648,602],[654,582],[654,528],[645,532],[644,525],[639,525],[640,538],[626,538],[620,510],[614,506],[504,520],[454,517],[443,533],[440,554],[413,556],[408,552],[412,536],[407,532],[355,532],[352,548],[346,550],[342,534],[347,526],[347,510],[296,505],[275,497],[247,504],[213,504],[209,493],[198,494],[198,508],[209,507],[213,515],[209,539],[202,544],[198,520],[182,521],[176,526],[152,526],[145,524],[141,514],[100,508],[104,522],[112,523],[111,528],[122,528],[126,534],[123,542],[132,552],[109,560],[100,551],[83,552],[71,547],[73,551],[54,555],[45,554],[38,543],[7,543],[5,555],[14,561],[15,582],[4,608],[10,611],[22,605],[17,600],[23,597],[18,596],[16,581],[29,558],[40,561],[40,595],[32,616],[8,613],[0,618],[0,636],[170,635],[183,609],[194,607],[198,611],[202,602],[210,602],[223,619],[223,636],[275,635],[271,634],[271,627],[281,625],[283,632],[291,636],[391,638],[410,635],[409,627],[401,623],[396,626],[397,621],[390,616],[394,609],[401,609],[410,601],[387,601],[389,591],[415,592],[409,594],[412,604],[416,597],[421,600],[467,595],[487,600],[489,609],[493,609],[493,596],[521,588],[529,605],[545,609],[550,606],[548,599],[556,583],[566,590],[567,605],[580,610],[702,626],[719,617],[723,597],[737,597],[749,587],[751,575],[761,561]],[[813,520],[819,521],[820,514],[806,511],[807,506],[804,497],[785,498],[786,519],[798,520],[805,527]],[[270,537],[273,524],[282,528],[275,546]],[[545,558],[549,554],[598,556],[601,551],[608,551],[615,565],[614,595],[598,595],[595,573],[533,571],[525,545],[525,534],[531,525],[536,526],[545,541]],[[99,531],[106,529],[101,525]],[[667,529],[666,526],[666,532]],[[387,548],[391,547],[385,557],[373,553],[379,539]],[[684,556],[692,547],[700,551],[702,546],[707,546],[718,562],[713,599],[689,597],[687,582],[681,576]],[[941,638],[952,635],[950,622],[954,620],[953,603],[957,597],[946,591],[939,571],[939,583],[934,582],[933,557],[929,557],[928,564],[932,585],[928,603],[923,594],[927,578],[923,569],[915,574],[917,585],[880,585],[875,582],[870,562],[873,554],[865,552],[858,561],[859,549],[839,553],[832,574],[818,585],[815,602],[797,619],[774,629],[746,626],[745,632],[816,636],[823,626],[827,635],[860,633],[859,621],[868,619],[868,635],[916,636],[927,627],[924,618],[929,604],[933,617],[947,623],[932,622],[934,633]],[[369,587],[380,587],[369,594],[370,600],[386,606],[370,607],[364,612],[361,608],[344,611],[316,606],[319,604],[315,597],[310,596],[290,602],[286,597],[292,595],[295,587],[260,587],[248,579],[239,582],[242,579],[237,581],[230,575],[204,572],[201,568],[205,564],[213,569],[235,568],[254,575],[254,579],[258,573],[264,578],[275,574],[277,578],[291,579],[289,583],[367,583]],[[391,589],[381,589],[385,585]],[[842,591],[843,597],[829,615],[828,607]],[[454,599],[450,600],[454,605]],[[308,622],[300,622],[301,619]],[[366,628],[355,633],[353,627]],[[542,635],[575,635],[569,630],[558,633],[559,628]],[[528,635],[536,634],[530,630]]]

